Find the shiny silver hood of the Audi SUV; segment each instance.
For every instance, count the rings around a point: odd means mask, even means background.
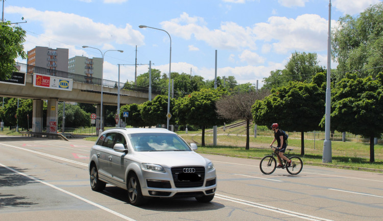
[[[158,152],[135,152],[134,157],[140,163],[159,164],[165,168],[183,165],[198,165],[206,167],[210,160],[194,151],[158,151]]]

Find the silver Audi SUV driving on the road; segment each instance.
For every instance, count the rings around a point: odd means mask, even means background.
[[[135,206],[154,197],[210,202],[217,188],[216,169],[196,149],[166,129],[105,130],[90,150],[90,186],[102,191],[110,183],[127,189]]]

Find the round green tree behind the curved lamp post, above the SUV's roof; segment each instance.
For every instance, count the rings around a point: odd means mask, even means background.
[[[153,100],[142,103],[140,111],[141,118],[146,126],[167,124],[167,95],[157,95]],[[170,107],[174,106],[174,99],[170,100]],[[175,123],[174,117],[170,119],[170,124]]]

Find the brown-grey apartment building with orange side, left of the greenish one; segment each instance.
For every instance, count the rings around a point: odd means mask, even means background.
[[[34,73],[35,67],[49,69],[51,75],[56,75],[57,71],[68,72],[68,54],[67,48],[49,48],[36,46],[27,52],[28,54],[28,73]]]

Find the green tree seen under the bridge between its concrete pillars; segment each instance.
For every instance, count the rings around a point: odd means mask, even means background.
[[[63,104],[58,107],[58,127],[62,127]],[[78,105],[65,104],[65,127],[78,128],[90,126],[90,113]]]

